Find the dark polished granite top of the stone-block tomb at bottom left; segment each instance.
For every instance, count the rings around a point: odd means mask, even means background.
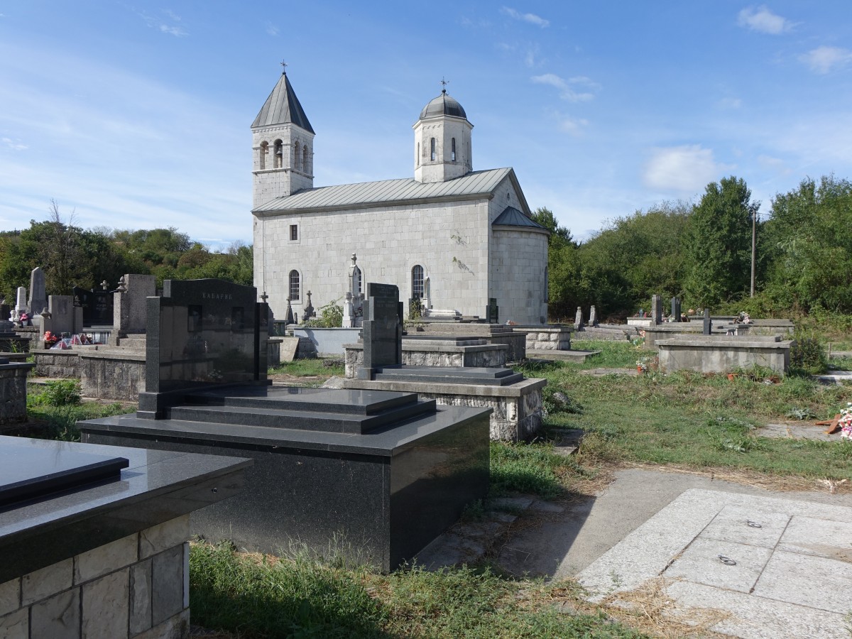
[[[232,497],[250,465],[0,436],[0,584]]]

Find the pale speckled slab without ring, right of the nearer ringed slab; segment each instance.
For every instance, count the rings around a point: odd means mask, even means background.
[[[780,550],[766,565],[754,594],[846,614],[850,584],[852,564],[846,561]]]

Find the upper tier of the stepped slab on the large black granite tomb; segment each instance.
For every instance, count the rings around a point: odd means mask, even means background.
[[[314,391],[314,392],[311,392]],[[370,390],[325,389],[270,389],[255,387],[242,389],[240,394],[227,390],[210,390],[187,394],[186,404],[194,406],[233,406],[262,408],[263,410],[336,412],[348,415],[371,416],[378,413],[417,404],[417,393],[377,392]]]

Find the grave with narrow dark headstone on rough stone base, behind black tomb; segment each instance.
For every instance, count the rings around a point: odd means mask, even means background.
[[[348,361],[344,388],[417,393],[446,406],[486,406],[492,409],[490,436],[495,440],[523,440],[538,432],[546,380],[525,379],[503,366],[403,366],[400,306],[395,285],[367,285],[363,363],[356,367]],[[525,338],[523,333],[515,335]],[[357,344],[346,348],[348,354],[360,350]]]

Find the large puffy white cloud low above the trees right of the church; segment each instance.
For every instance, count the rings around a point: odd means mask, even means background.
[[[713,150],[698,144],[653,149],[642,180],[664,191],[694,193],[734,167],[718,164]]]

